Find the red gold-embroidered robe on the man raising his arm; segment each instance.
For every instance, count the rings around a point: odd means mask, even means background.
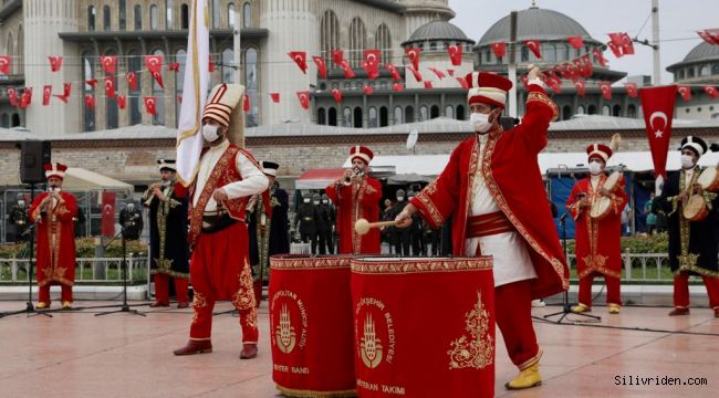
[[[411,199],[433,228],[452,214],[452,252],[463,256],[471,188],[475,178],[483,177],[494,202],[527,242],[538,275],[532,280],[535,298],[569,287],[569,269],[538,164],[549,123],[556,115],[544,90],[531,84],[522,124],[508,132],[491,130],[482,159],[477,135],[460,143],[439,177]]]

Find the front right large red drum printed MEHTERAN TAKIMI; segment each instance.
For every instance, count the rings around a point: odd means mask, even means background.
[[[491,258],[352,260],[359,397],[493,397]]]

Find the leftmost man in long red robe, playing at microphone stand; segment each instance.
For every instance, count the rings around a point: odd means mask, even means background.
[[[30,206],[30,221],[35,223],[38,305],[50,307],[50,286],[61,286],[63,310],[72,307],[72,285],[75,283],[75,221],[77,201],[63,192],[62,181],[67,166],[44,165],[48,191],[40,193]]]

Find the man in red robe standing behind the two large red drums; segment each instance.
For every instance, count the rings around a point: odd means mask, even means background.
[[[325,188],[327,197],[337,208],[336,229],[340,240],[338,254],[378,254],[379,230],[373,228],[362,235],[354,230],[358,219],[379,221],[382,184],[367,176],[373,153],[364,146],[350,148],[352,169],[344,177]],[[348,184],[346,181],[350,181]]]

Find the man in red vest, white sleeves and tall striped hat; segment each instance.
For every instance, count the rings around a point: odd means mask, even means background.
[[[209,148],[200,157],[189,196],[195,317],[187,345],[175,355],[212,352],[212,308],[216,301],[229,300],[240,313],[240,359],[257,357],[259,333],[244,212],[248,199],[268,188],[268,178],[252,155],[241,148],[243,95],[244,87],[239,84],[217,85],[202,114],[202,137]]]

